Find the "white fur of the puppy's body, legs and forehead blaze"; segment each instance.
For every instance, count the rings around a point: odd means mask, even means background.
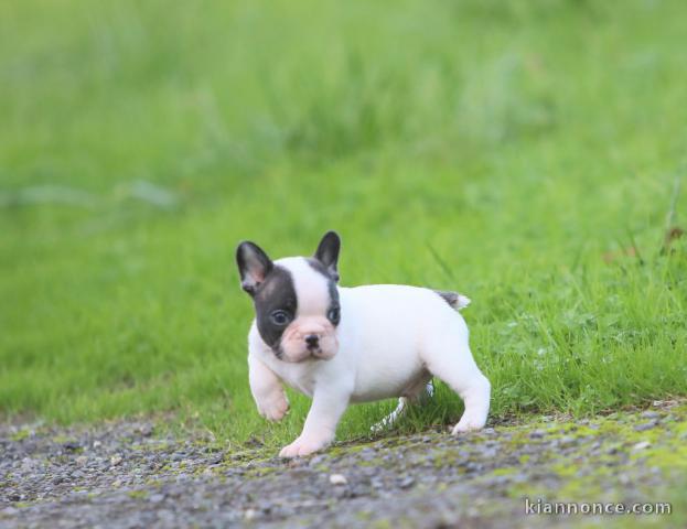
[[[293,274],[297,320],[324,314],[326,307],[321,305],[328,298],[322,276],[302,258],[276,262]],[[490,384],[470,352],[464,320],[443,299],[428,289],[396,284],[340,287],[339,294],[341,323],[331,359],[280,360],[262,342],[255,322],[250,328],[249,380],[260,413],[279,420],[287,412],[281,381],[312,398],[301,435],[283,447],[281,456],[307,455],[331,443],[350,402],[415,399],[426,391],[432,376],[447,382],[465,403],[454,434],[484,425]],[[466,302],[461,299],[459,304]]]

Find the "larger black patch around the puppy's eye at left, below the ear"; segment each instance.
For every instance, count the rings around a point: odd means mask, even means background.
[[[275,354],[281,356],[281,335],[289,324],[296,319],[298,300],[291,272],[286,268],[275,264],[260,283],[254,298],[256,322],[262,341],[271,347]],[[275,321],[276,311],[283,311],[288,321],[285,324]]]

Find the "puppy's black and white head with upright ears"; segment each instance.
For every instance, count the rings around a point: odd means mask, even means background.
[[[262,341],[279,359],[329,360],[339,350],[340,248],[334,231],[324,235],[313,257],[272,261],[254,242],[238,245],[241,288],[253,298]]]

